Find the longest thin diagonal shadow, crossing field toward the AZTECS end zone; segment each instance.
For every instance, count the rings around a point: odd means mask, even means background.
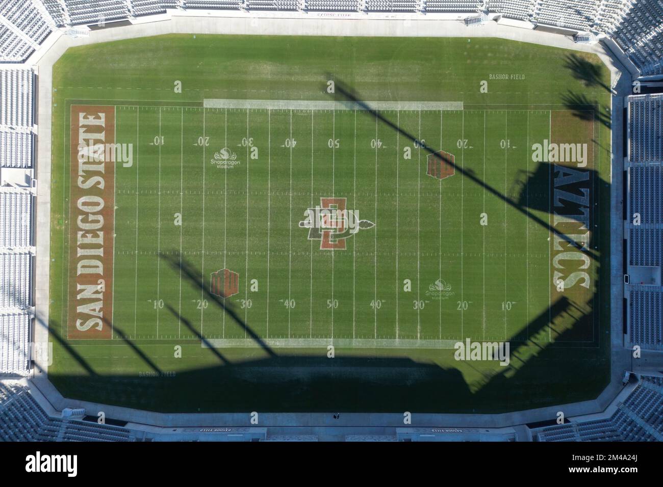
[[[331,75],[328,75],[328,76],[331,76]],[[331,78],[328,78],[328,79],[331,79]],[[419,144],[419,146],[421,148],[424,148],[426,151],[428,151],[429,154],[432,154],[433,156],[435,156],[436,158],[438,158],[439,160],[444,162],[444,164],[451,164],[451,162],[449,160],[447,160],[446,158],[440,156],[440,154],[438,154],[437,151],[434,148],[426,145],[421,140],[418,140],[418,138],[416,138],[416,137],[412,136],[410,133],[404,131],[403,129],[398,127],[398,125],[393,123],[391,120],[389,120],[386,117],[384,117],[383,115],[381,115],[377,110],[371,108],[371,106],[368,105],[365,101],[361,101],[359,98],[357,98],[355,95],[353,95],[350,91],[345,89],[345,87],[343,87],[343,81],[335,81],[335,87],[336,87],[336,90],[339,91],[341,93],[341,95],[343,95],[343,97],[345,97],[349,101],[353,101],[354,103],[357,103],[357,105],[361,106],[365,111],[368,111],[369,113],[371,113],[371,115],[374,115],[375,117],[377,117],[377,119],[379,119],[380,121],[382,121],[383,123],[385,123],[386,125],[391,127],[392,129],[394,129],[394,131],[397,131],[398,133],[400,133],[400,135],[402,135],[406,138],[409,138],[410,140],[412,140],[412,142],[416,142],[417,144]],[[471,172],[469,172],[469,171],[465,170],[464,168],[462,168],[461,166],[457,166],[457,165],[454,166],[454,169],[457,170],[458,172],[460,172],[465,178],[468,178],[469,180],[471,180],[472,182],[475,182],[476,184],[478,184],[482,188],[487,189],[491,194],[495,195],[496,197],[498,197],[499,199],[501,199],[502,201],[507,203],[509,206],[511,206],[512,208],[516,209],[517,211],[519,211],[520,213],[522,213],[523,215],[525,215],[526,217],[528,217],[529,219],[534,221],[534,223],[537,223],[541,227],[544,227],[545,229],[547,229],[548,232],[554,233],[555,235],[558,235],[558,237],[560,237],[560,239],[566,241],[567,243],[570,243],[573,246],[579,247],[578,243],[576,241],[574,241],[571,237],[568,237],[567,235],[565,235],[563,233],[558,233],[557,231],[555,231],[555,229],[553,227],[550,226],[550,223],[548,223],[546,221],[543,221],[542,219],[540,219],[539,217],[537,217],[536,215],[534,215],[533,213],[528,211],[528,209],[525,209],[525,208],[523,208],[519,205],[516,205],[516,203],[511,201],[511,199],[509,199],[506,195],[503,195],[497,189],[493,188],[492,186],[489,186],[489,184],[487,184],[486,182],[481,181],[479,178],[477,178],[477,176],[474,176],[474,174],[472,174]],[[585,252],[592,259],[598,260],[595,252],[593,250],[591,250],[590,248],[586,248]]]

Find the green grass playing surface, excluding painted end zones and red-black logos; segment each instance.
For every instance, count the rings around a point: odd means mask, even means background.
[[[161,411],[595,398],[609,372],[609,75],[570,68],[591,65],[475,38],[169,35],[69,50],[53,80],[51,380],[66,396]],[[332,105],[347,92],[365,105]],[[105,213],[107,339],[71,333],[78,105],[112,107],[114,141],[133,146]],[[561,188],[552,162],[532,158],[544,140],[587,144],[587,177]],[[454,156],[444,180],[426,174],[437,150]],[[331,197],[375,224],[335,250],[300,225]],[[587,266],[558,257],[571,246],[556,235],[581,232],[554,215],[580,207],[589,238],[572,239]],[[587,287],[560,292],[554,272],[574,266]],[[239,275],[225,299],[210,287],[224,268]],[[455,360],[465,339],[509,342],[509,365]]]

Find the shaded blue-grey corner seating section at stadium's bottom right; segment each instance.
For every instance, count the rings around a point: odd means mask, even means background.
[[[642,376],[606,419],[532,429],[534,441],[663,441],[663,378]]]

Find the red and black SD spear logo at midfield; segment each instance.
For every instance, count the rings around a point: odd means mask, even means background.
[[[321,250],[345,250],[345,239],[375,223],[359,219],[359,211],[346,208],[345,198],[320,198],[320,206],[304,212],[299,226],[307,228],[309,240],[319,240]]]

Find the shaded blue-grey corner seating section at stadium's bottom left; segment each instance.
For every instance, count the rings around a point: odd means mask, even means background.
[[[50,417],[25,386],[0,382],[0,441],[133,441],[112,425]]]

